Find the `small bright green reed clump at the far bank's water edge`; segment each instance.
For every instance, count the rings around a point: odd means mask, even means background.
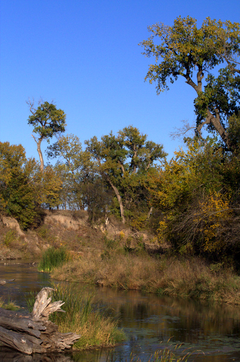
[[[61,267],[69,260],[70,256],[65,248],[54,249],[51,247],[43,253],[38,270],[51,272],[53,268]]]

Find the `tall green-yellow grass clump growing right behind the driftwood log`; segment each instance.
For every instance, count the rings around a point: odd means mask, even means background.
[[[125,339],[124,333],[117,327],[118,322],[94,306],[93,295],[87,294],[84,288],[79,290],[60,285],[53,285],[53,288],[55,292],[52,300],[64,301],[62,309],[66,313],[53,313],[49,319],[59,326],[60,332],[75,332],[81,335],[74,344],[75,349],[112,347]],[[29,294],[27,300],[29,310],[32,309],[34,302],[34,295]]]

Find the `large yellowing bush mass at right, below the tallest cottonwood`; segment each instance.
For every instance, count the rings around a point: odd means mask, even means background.
[[[148,179],[152,204],[159,210],[159,242],[180,255],[200,254],[211,260],[240,249],[238,154],[225,153],[214,139],[188,139],[187,151],[175,152]]]

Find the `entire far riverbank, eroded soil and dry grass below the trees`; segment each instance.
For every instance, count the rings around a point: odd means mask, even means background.
[[[233,269],[171,256],[151,235],[118,220],[92,227],[85,211],[46,210],[43,224],[23,233],[9,219],[0,224],[0,257],[36,259],[65,247],[71,260],[51,272],[55,279],[240,305],[240,277]]]

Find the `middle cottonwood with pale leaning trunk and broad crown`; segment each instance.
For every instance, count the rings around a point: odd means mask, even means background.
[[[141,180],[154,161],[166,154],[163,146],[147,141],[133,126],[123,128],[114,136],[96,136],[86,140],[86,150],[98,162],[98,172],[113,189],[118,200],[122,223],[125,223],[124,209],[136,202],[141,189]]]

